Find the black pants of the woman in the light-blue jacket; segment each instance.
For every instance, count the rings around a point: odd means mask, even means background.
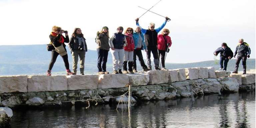
[[[146,69],[148,68],[146,65],[145,65],[145,62],[143,60],[143,56],[142,56],[142,53],[141,53],[141,49],[134,49],[133,51],[133,66],[132,66],[132,69],[134,70],[137,70],[137,64],[136,64],[136,56],[138,56],[139,58],[139,61],[140,61],[140,65],[142,67],[142,69]]]

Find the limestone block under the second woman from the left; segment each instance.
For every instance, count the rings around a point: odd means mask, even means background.
[[[85,90],[98,88],[98,75],[71,75],[67,76],[68,90]]]

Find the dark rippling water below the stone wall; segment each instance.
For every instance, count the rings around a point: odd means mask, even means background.
[[[206,95],[177,100],[142,102],[130,110],[116,105],[99,105],[14,110],[12,128],[255,128],[255,91]]]

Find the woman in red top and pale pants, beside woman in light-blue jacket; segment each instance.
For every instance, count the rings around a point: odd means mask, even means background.
[[[124,70],[124,73],[134,74],[134,72],[132,71],[133,51],[134,51],[133,29],[132,28],[127,28],[124,33],[125,33],[125,38],[126,38],[126,41],[127,41],[127,45],[124,47],[123,70]],[[128,71],[127,71],[127,62],[128,62]]]

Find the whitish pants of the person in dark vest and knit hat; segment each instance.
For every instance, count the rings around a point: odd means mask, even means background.
[[[124,49],[111,50],[113,58],[113,70],[119,70],[123,68],[124,63]]]

